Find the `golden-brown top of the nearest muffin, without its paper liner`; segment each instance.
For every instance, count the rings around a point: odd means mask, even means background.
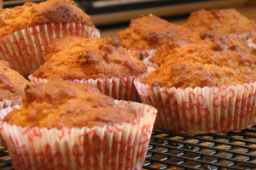
[[[4,122],[21,127],[95,127],[134,122],[135,117],[86,83],[51,80],[27,85],[20,109],[9,112]]]

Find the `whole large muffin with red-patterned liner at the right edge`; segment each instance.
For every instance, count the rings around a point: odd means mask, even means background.
[[[201,41],[183,40],[170,49],[163,65],[135,80],[143,103],[159,111],[154,127],[221,133],[253,126],[255,51],[214,31],[197,32],[197,38]]]

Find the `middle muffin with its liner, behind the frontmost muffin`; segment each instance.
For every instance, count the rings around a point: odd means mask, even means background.
[[[62,37],[47,48],[45,59],[29,77],[32,82],[58,78],[87,82],[114,99],[140,99],[133,80],[147,67],[120,46],[118,37]]]

